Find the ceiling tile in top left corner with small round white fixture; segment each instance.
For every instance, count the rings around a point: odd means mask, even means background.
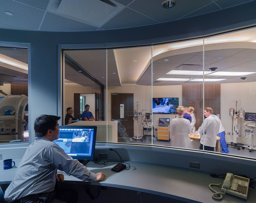
[[[9,11],[13,16],[8,16],[4,12]],[[43,19],[45,11],[26,6],[16,1],[1,1],[0,19],[12,25],[17,25],[29,29],[37,30]]]

